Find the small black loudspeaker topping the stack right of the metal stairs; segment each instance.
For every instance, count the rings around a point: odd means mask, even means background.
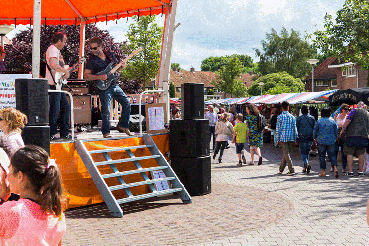
[[[204,84],[181,85],[181,116],[184,120],[204,118]]]

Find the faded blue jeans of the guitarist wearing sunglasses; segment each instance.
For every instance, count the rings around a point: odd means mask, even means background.
[[[129,116],[131,114],[131,101],[123,90],[117,85],[110,85],[105,91],[97,89],[101,102],[101,133],[110,133],[110,105],[112,98],[121,104],[121,127],[129,128]]]

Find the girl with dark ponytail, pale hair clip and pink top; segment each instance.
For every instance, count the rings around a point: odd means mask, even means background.
[[[19,149],[11,158],[9,185],[0,179],[0,245],[61,246],[66,230],[63,186],[55,160],[38,146]],[[18,201],[4,202],[10,192]]]

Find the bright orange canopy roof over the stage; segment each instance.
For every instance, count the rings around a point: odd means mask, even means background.
[[[0,25],[33,25],[34,0],[4,0],[0,8]],[[171,0],[42,0],[41,24],[79,25],[103,22],[133,15],[165,14]]]

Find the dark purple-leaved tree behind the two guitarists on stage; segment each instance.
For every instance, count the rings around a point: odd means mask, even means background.
[[[19,31],[14,38],[12,38],[12,45],[5,45],[6,49],[6,66],[9,70],[24,71],[22,61],[25,67],[32,70],[32,29],[28,28]],[[79,60],[79,33],[80,28],[76,25],[41,25],[41,45],[40,45],[40,60],[44,60],[44,53],[51,45],[51,39],[55,32],[63,31],[67,34],[67,44],[62,49],[61,53],[66,64],[72,65]],[[113,52],[118,61],[125,58],[124,51],[121,49],[123,43],[114,42],[114,38],[109,34],[109,31],[100,30],[95,24],[87,24],[85,30],[85,54],[90,57],[92,52],[87,41],[94,36],[100,37],[104,41],[104,49]],[[71,74],[72,79],[78,78],[78,73]],[[121,77],[117,79],[117,83],[121,86],[123,91],[127,94],[137,94],[141,90],[141,85],[137,81],[123,80]],[[88,81],[89,93],[96,94],[95,85],[92,81]]]

